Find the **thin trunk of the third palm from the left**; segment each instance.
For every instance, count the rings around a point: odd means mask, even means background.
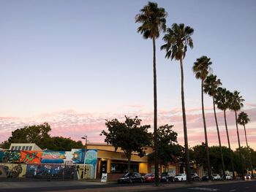
[[[209,147],[208,147],[206,117],[205,117],[205,110],[204,110],[204,104],[203,104],[203,80],[201,81],[201,101],[202,101],[202,114],[203,114],[203,129],[205,132],[205,139],[206,139],[206,156],[207,156],[207,166],[208,166],[208,177],[209,177],[209,180],[211,180],[210,153],[209,153]]]

